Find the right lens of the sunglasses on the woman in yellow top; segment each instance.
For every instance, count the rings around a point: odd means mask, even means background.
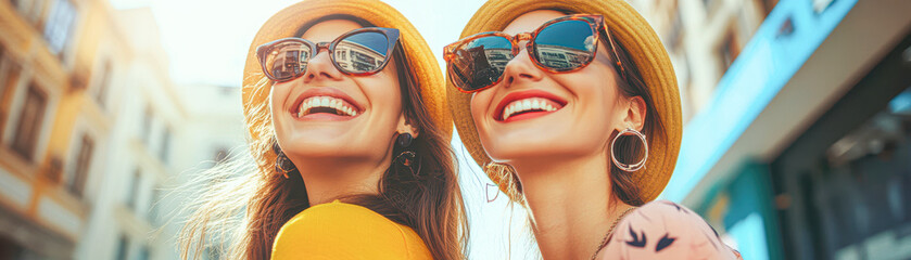
[[[379,70],[389,56],[389,39],[377,31],[367,31],[345,37],[332,53],[336,63],[352,74]]]

